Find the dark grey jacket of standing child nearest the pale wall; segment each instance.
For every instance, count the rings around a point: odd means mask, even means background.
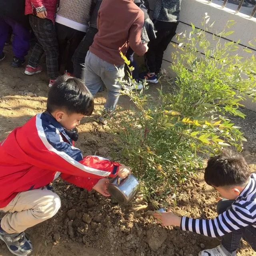
[[[177,22],[180,17],[181,0],[156,0],[154,20]]]

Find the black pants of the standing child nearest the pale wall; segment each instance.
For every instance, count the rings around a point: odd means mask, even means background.
[[[177,26],[178,22],[157,21],[155,23],[156,38],[148,43],[148,52],[145,54],[146,67],[149,72],[156,74],[160,72],[164,51],[175,36]]]

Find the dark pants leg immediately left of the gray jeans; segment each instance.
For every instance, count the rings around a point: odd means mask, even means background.
[[[72,62],[74,66],[74,76],[76,78],[80,78],[84,81],[84,62],[86,54],[93,43],[94,36],[97,34],[98,29],[94,27],[89,27],[84,36],[83,40],[80,42],[79,46],[77,47],[73,57]]]

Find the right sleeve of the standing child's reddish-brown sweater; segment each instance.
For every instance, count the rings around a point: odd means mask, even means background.
[[[132,24],[129,32],[129,44],[132,50],[139,56],[146,52],[146,47],[141,42],[141,30],[144,24],[144,13],[141,11],[140,16]]]

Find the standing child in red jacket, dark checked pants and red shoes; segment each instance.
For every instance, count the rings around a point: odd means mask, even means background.
[[[59,75],[59,46],[55,28],[55,13],[58,0],[26,0],[25,14],[28,15],[30,26],[37,42],[28,60],[25,74],[34,75],[42,71],[40,58],[45,53],[49,86]]]

